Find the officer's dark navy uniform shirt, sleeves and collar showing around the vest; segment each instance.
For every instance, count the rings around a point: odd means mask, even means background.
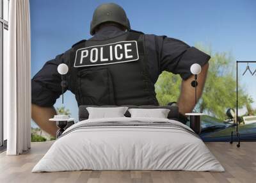
[[[104,40],[122,35],[124,31],[115,26],[100,29],[90,40]],[[153,83],[164,70],[180,74],[186,80],[191,76],[190,67],[193,63],[201,66],[209,61],[210,56],[184,42],[166,36],[145,35],[145,47],[148,55],[148,73]],[[68,62],[69,51],[47,61],[44,67],[32,79],[32,103],[38,106],[53,106],[61,95],[61,76],[57,67]]]

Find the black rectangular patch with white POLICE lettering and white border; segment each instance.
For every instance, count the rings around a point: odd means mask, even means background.
[[[108,65],[139,60],[136,41],[123,41],[77,49],[74,67]]]

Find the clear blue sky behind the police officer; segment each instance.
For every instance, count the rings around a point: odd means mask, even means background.
[[[77,41],[90,38],[93,10],[109,2],[124,8],[132,29],[178,38],[189,45],[211,46],[213,52],[228,51],[234,56],[234,63],[235,60],[256,60],[256,1],[253,0],[33,0],[30,1],[31,76],[45,61],[67,51]],[[256,100],[256,84],[252,84],[255,77],[246,77],[242,82]],[[65,93],[65,100],[72,116],[77,118],[72,93]],[[60,104],[58,100],[56,106]]]

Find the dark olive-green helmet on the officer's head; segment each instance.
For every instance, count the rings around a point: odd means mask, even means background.
[[[93,12],[90,33],[95,34],[95,28],[104,22],[116,22],[121,24],[128,30],[130,28],[130,22],[127,19],[124,9],[115,3],[101,4]]]

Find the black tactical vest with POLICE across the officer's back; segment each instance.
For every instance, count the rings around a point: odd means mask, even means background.
[[[143,33],[84,40],[72,47],[69,60],[68,89],[79,106],[159,105],[148,76]]]

